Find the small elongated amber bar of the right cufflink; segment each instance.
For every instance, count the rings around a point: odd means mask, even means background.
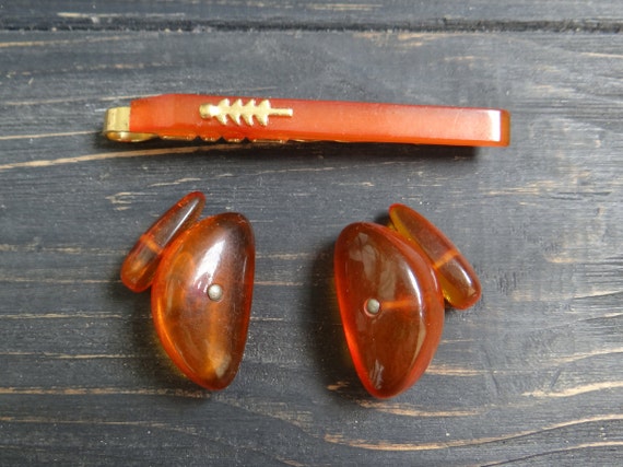
[[[444,297],[451,306],[465,310],[479,301],[481,287],[475,271],[442,231],[404,205],[392,205],[389,218],[392,226],[431,259]]]

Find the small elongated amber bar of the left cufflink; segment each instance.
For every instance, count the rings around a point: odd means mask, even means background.
[[[163,249],[199,219],[204,205],[203,194],[190,192],[141,235],[121,266],[121,282],[128,289],[142,292],[151,285]]]

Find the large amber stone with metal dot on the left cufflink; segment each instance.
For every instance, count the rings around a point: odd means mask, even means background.
[[[176,365],[208,389],[227,386],[243,359],[250,318],[255,241],[240,214],[208,218],[165,250],[152,314]]]

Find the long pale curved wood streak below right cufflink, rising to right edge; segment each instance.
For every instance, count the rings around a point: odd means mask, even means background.
[[[505,442],[548,431],[554,431],[562,428],[580,425],[586,423],[612,421],[612,420],[623,420],[623,415],[619,413],[606,415],[606,416],[592,417],[580,420],[572,420],[562,423],[546,425],[536,430],[518,431],[516,433],[508,433],[501,436],[485,436],[485,437],[477,437],[473,440],[450,440],[439,443],[391,443],[386,441],[373,442],[367,440],[354,440],[354,439],[349,440],[342,434],[326,434],[325,441],[328,443],[334,443],[334,444],[341,444],[341,445],[360,447],[363,450],[374,450],[374,451],[436,451],[436,450],[447,450],[450,447],[478,446],[481,444]],[[623,444],[623,442],[621,442],[621,444]]]

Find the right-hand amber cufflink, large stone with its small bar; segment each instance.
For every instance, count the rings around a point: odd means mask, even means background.
[[[444,296],[456,307],[480,297],[475,272],[421,214],[390,209],[391,229],[358,222],[336,243],[340,315],[357,375],[374,397],[412,386],[439,345]]]

